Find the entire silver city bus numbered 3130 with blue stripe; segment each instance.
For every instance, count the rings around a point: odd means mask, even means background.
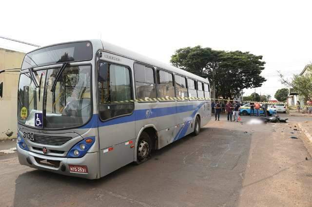
[[[39,48],[20,69],[19,162],[100,178],[198,135],[210,98],[208,79],[99,39]]]

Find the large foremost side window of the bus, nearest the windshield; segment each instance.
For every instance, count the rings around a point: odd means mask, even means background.
[[[131,114],[132,100],[130,70],[124,66],[100,63],[98,70],[98,112],[102,121]]]

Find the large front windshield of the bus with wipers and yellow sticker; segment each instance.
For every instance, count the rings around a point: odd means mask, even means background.
[[[34,71],[39,87],[29,72],[20,74],[18,121],[35,127],[35,114],[43,116],[43,128],[69,128],[89,121],[91,110],[91,66],[67,66],[51,91],[60,68]]]

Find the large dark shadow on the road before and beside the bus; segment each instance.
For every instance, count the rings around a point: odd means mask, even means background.
[[[39,170],[20,174],[14,206],[95,206],[110,199],[112,206],[231,204],[242,186],[251,143],[252,132],[241,127],[207,125],[200,135],[155,151],[147,162],[129,164],[98,180]]]

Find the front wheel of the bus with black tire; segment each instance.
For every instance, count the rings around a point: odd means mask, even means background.
[[[137,161],[136,164],[141,164],[151,157],[152,142],[147,132],[143,131],[137,142]]]

